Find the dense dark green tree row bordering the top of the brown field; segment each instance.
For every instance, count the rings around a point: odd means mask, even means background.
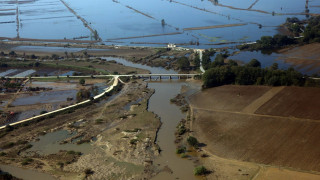
[[[274,63],[269,68],[261,68],[261,63],[252,59],[244,66],[232,63],[211,67],[203,75],[203,87],[215,87],[225,84],[269,85],[269,86],[315,86],[316,82],[308,79],[300,72],[289,68],[278,69]]]

